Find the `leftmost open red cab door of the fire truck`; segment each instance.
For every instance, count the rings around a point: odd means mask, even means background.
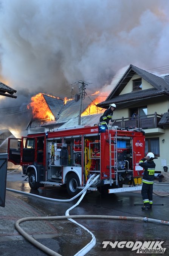
[[[20,165],[20,148],[21,139],[8,139],[8,161],[14,163],[14,165]]]

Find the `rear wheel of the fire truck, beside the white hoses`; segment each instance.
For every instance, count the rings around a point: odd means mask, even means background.
[[[80,186],[80,181],[76,173],[71,173],[67,178],[67,192],[70,196],[76,196],[81,189],[77,188]]]

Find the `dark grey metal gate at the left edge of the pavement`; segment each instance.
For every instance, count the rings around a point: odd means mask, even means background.
[[[0,206],[5,207],[8,154],[0,154]]]

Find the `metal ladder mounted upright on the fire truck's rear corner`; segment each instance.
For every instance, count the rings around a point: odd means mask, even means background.
[[[118,169],[117,169],[117,130],[114,136],[109,133],[109,153],[110,153],[110,186],[112,185],[112,168],[114,168],[115,181],[118,185]],[[112,165],[114,162],[114,165]]]

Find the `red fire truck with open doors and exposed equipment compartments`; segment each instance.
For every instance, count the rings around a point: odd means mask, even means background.
[[[99,174],[89,189],[113,193],[124,191],[124,185],[139,189],[144,144],[142,129],[74,126],[9,138],[8,161],[22,166],[32,189],[62,185],[74,196]]]

